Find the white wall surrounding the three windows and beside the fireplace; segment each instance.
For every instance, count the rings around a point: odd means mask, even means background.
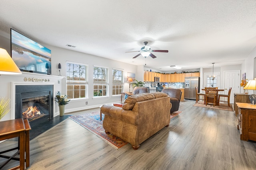
[[[4,48],[8,51],[10,54],[10,36],[7,35],[4,32],[1,32],[0,30],[0,48]],[[94,55],[89,55],[85,53],[80,53],[76,51],[71,51],[67,49],[62,49],[58,47],[53,47],[50,45],[42,44],[45,47],[49,48],[52,51],[52,75],[58,76],[58,63],[61,64],[62,68],[60,70],[60,74],[62,76],[66,76],[66,61],[72,61],[77,63],[84,63],[88,64],[88,97],[87,100],[73,100],[70,101],[68,105],[65,107],[65,112],[71,112],[71,111],[77,111],[82,109],[89,109],[98,107],[102,104],[108,104],[108,103],[114,103],[114,102],[120,102],[120,96],[113,96],[112,97],[112,82],[109,83],[109,97],[107,98],[97,98],[93,99],[93,66],[104,66],[109,68],[110,76],[112,75],[112,68],[120,68],[124,70],[124,92],[129,91],[129,83],[126,82],[127,80],[127,72],[133,72],[136,74],[137,79],[137,66],[127,63],[122,63],[110,59],[106,59],[103,57],[98,57]],[[142,72],[143,75],[143,72]],[[50,77],[50,76],[49,76]],[[141,75],[140,75],[141,78]],[[142,76],[143,78],[143,76]],[[1,81],[1,88],[0,88],[0,97],[6,97],[11,98],[11,92],[10,92],[10,83],[15,81],[17,78],[15,76],[0,76]],[[21,76],[20,79],[23,79]],[[111,77],[110,77],[111,80]],[[142,79],[143,80],[143,79]],[[53,80],[54,81],[54,80]],[[58,84],[58,81],[55,82]],[[63,78],[61,81],[61,84],[58,85],[59,89],[56,89],[60,91],[62,94],[66,94],[66,78]],[[132,88],[131,88],[132,90]],[[12,99],[11,99],[12,100]],[[85,103],[88,102],[88,105]],[[14,109],[14,108],[11,108]],[[58,108],[55,109],[55,115],[58,112]],[[10,113],[6,115],[2,120],[10,119]]]

